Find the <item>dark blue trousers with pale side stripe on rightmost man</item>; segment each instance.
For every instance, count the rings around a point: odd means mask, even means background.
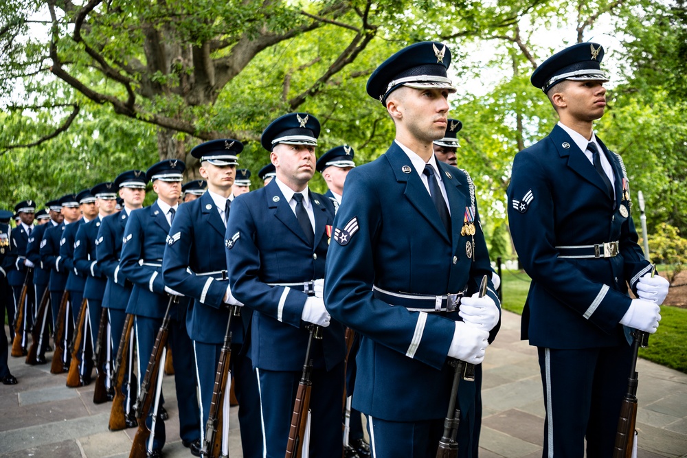
[[[613,455],[631,347],[537,352],[546,411],[542,457],[581,458],[585,439],[587,458]]]

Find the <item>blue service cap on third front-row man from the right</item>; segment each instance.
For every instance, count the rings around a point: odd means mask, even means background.
[[[262,148],[271,151],[276,144],[317,146],[319,121],[308,113],[289,113],[275,119],[262,131]]]

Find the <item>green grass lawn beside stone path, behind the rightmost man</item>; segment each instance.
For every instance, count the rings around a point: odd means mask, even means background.
[[[530,277],[526,273],[503,271],[503,308],[522,314],[528,288]],[[640,356],[687,374],[687,309],[662,306],[661,317],[658,331],[649,337],[649,347],[642,348]]]

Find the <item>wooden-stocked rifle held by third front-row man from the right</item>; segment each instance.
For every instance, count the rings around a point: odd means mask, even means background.
[[[295,402],[293,402],[293,414],[291,414],[291,425],[289,426],[289,440],[286,442],[286,455],[284,458],[302,458],[302,441],[305,436],[305,428],[308,422],[308,410],[310,410],[310,393],[313,389],[311,373],[313,371],[313,360],[310,358],[310,350],[314,339],[322,339],[322,328],[318,325],[308,325],[310,335],[308,336],[308,346],[305,351],[305,363],[303,364],[303,374],[298,382]]]

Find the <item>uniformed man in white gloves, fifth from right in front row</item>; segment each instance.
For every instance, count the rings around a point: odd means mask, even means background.
[[[157,201],[131,212],[122,240],[121,271],[133,283],[126,312],[135,315],[134,327],[138,347],[138,374],[146,373],[146,367],[157,331],[164,319],[165,310],[170,303],[170,295],[179,295],[164,284],[162,277],[162,256],[167,246],[170,225],[177,213],[181,196],[183,161],[167,159],[151,166],[146,172],[148,181],[153,182]],[[168,294],[165,294],[168,293]],[[186,332],[187,301],[172,304],[170,308],[169,343],[172,349],[174,380],[177,386],[179,407],[179,435],[185,447],[190,447],[194,455],[199,455],[201,424],[198,398],[196,396],[196,367],[193,358],[192,341]],[[141,380],[142,382],[143,380]],[[162,404],[162,399],[160,400]],[[152,425],[153,408],[146,419],[148,428]],[[155,423],[153,457],[162,456],[165,444],[166,415],[160,415]]]

